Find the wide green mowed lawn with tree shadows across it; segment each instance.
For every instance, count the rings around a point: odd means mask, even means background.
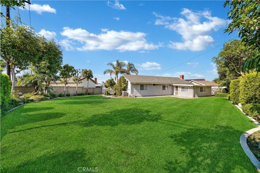
[[[2,172],[257,172],[239,138],[256,125],[223,97],[30,103],[1,118]]]

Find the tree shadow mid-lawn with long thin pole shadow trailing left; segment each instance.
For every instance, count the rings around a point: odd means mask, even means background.
[[[17,131],[12,131],[11,133],[39,129],[43,127],[53,127],[53,126],[67,126],[67,125],[78,125],[80,127],[91,127],[91,126],[117,126],[119,124],[132,125],[139,124],[144,121],[155,122],[160,120],[162,117],[158,114],[153,114],[149,110],[143,109],[118,109],[112,110],[106,113],[95,114],[90,118],[70,121],[66,123],[51,124],[36,126],[29,129],[22,129]]]

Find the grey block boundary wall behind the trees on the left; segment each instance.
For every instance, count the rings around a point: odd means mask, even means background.
[[[60,93],[64,93],[64,86],[52,86],[52,89],[54,93],[59,95]],[[33,87],[29,86],[15,86],[15,90],[19,90],[22,94],[33,92]],[[78,86],[78,93],[84,92],[87,94],[87,88],[84,88],[83,86]],[[88,91],[91,95],[97,95],[102,94],[102,88],[89,88]],[[76,95],[76,86],[66,86],[66,94],[71,94],[71,96]]]

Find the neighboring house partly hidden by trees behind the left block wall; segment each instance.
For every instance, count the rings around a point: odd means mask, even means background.
[[[88,81],[86,78],[82,78],[80,80],[82,83],[79,83],[78,86],[83,86],[84,88],[87,87]],[[89,79],[89,88],[95,88],[97,85],[97,78],[95,80]],[[60,81],[56,81],[56,83],[50,83],[50,86],[64,86],[64,83],[61,83]],[[73,78],[70,78],[67,86],[76,86],[76,83],[73,81]]]

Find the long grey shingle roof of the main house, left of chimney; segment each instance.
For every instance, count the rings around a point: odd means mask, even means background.
[[[163,76],[144,76],[144,75],[131,75],[124,74],[124,77],[127,78],[131,83],[163,83],[163,84],[187,84],[193,85],[190,82],[187,82],[181,78],[174,77],[163,77]]]

